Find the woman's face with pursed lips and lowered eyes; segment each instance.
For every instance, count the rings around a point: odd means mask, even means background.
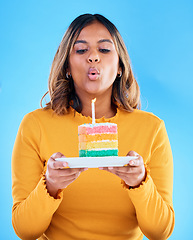
[[[80,32],[69,56],[69,69],[81,98],[111,95],[119,70],[119,56],[107,28],[94,22]]]

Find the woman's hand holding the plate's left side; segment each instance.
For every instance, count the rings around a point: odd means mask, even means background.
[[[74,180],[78,178],[84,168],[67,168],[66,161],[56,161],[56,158],[64,158],[65,156],[60,153],[54,153],[48,160],[46,170],[46,187],[49,194],[56,198],[59,189],[66,188]]]

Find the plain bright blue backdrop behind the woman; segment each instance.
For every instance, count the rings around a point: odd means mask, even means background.
[[[0,238],[11,224],[11,154],[23,116],[39,108],[54,54],[70,22],[100,13],[119,29],[141,88],[142,109],[165,121],[174,156],[176,224],[192,239],[193,1],[0,1]]]

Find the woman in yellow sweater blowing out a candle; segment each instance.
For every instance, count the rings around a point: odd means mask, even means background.
[[[69,26],[49,76],[50,102],[23,119],[13,150],[13,226],[22,239],[167,239],[173,163],[162,120],[138,110],[139,87],[116,27],[85,14]],[[70,169],[78,126],[118,125],[125,167]]]

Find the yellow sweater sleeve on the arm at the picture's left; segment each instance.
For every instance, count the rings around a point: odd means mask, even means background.
[[[12,223],[22,239],[36,239],[48,228],[63,193],[52,198],[46,189],[41,131],[33,113],[20,125],[12,154]]]

